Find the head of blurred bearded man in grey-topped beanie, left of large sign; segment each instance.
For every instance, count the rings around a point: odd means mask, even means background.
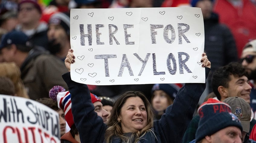
[[[64,13],[53,14],[49,20],[47,36],[49,44],[47,50],[63,61],[70,49],[70,18]]]

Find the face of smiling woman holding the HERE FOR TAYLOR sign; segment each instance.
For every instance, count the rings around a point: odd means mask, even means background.
[[[137,132],[147,124],[147,111],[140,97],[130,97],[121,108],[118,120],[121,120],[123,133]]]

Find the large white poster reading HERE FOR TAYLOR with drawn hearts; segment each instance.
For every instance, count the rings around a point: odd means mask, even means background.
[[[73,81],[204,83],[200,8],[71,9]]]

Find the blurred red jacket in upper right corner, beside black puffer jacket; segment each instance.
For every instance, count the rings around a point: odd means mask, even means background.
[[[228,0],[216,0],[213,11],[219,14],[220,23],[226,24],[231,30],[238,51],[249,40],[256,39],[256,6],[249,0],[242,0],[242,8],[235,8]]]

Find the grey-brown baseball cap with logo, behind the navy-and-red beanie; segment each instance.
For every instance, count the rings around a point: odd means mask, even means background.
[[[227,103],[231,106],[232,113],[238,117],[241,121],[243,131],[249,132],[250,130],[250,121],[251,121],[251,106],[245,99],[241,97],[229,97],[223,100],[224,103]]]

